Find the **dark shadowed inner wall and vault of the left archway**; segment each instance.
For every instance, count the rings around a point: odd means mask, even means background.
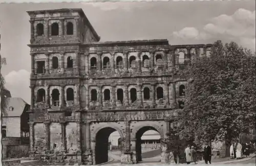
[[[100,129],[96,133],[95,164],[104,163],[109,160],[109,156],[108,156],[109,136],[114,131],[117,131],[117,130],[112,127],[105,127],[105,128]]]

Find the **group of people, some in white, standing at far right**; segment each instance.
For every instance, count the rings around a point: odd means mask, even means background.
[[[241,143],[233,143],[230,146],[230,158],[242,158],[242,155],[246,155],[246,157],[250,156],[252,153],[252,144],[245,143],[242,145]],[[255,151],[255,150],[254,150]]]

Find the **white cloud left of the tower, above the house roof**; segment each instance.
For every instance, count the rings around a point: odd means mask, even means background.
[[[12,97],[21,97],[30,104],[30,72],[27,70],[11,71],[5,76],[5,87]]]

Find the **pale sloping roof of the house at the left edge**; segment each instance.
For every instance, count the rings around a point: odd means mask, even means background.
[[[20,117],[26,104],[28,103],[20,97],[7,97],[6,113],[3,114],[3,117]]]

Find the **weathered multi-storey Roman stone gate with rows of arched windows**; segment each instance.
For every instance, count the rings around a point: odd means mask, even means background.
[[[51,164],[108,161],[108,137],[121,137],[121,163],[141,161],[141,136],[161,140],[177,125],[186,79],[177,73],[211,44],[167,40],[99,42],[81,9],[29,11],[30,157]],[[161,143],[161,162],[170,149]]]

